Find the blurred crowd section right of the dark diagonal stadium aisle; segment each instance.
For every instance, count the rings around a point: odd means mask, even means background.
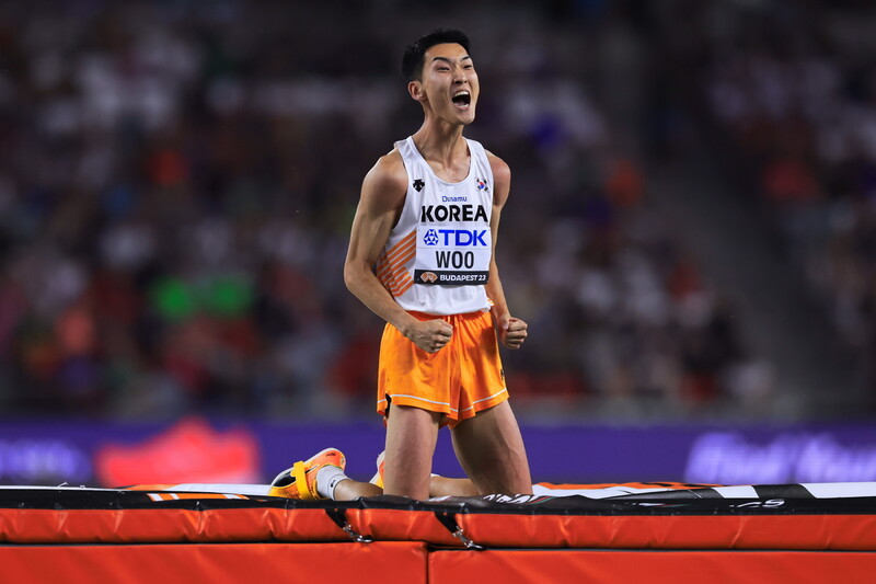
[[[876,11],[780,3],[726,14],[703,68],[718,150],[757,193],[807,294],[876,388]]]

